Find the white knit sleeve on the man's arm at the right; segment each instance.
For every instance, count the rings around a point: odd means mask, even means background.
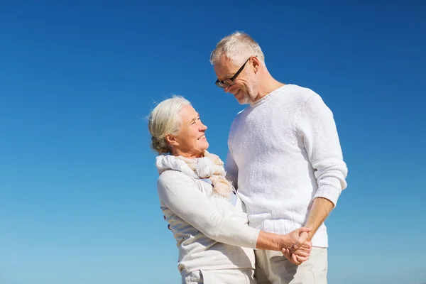
[[[318,189],[314,198],[327,198],[335,207],[347,186],[345,179],[348,170],[343,161],[332,111],[318,94],[311,95],[301,107],[296,128],[315,170]]]

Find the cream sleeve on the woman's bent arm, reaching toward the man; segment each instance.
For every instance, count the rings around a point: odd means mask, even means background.
[[[208,238],[232,246],[256,248],[260,230],[220,216],[192,178],[166,171],[158,178],[157,187],[165,206]]]

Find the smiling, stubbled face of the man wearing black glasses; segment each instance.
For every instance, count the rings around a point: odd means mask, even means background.
[[[235,66],[226,55],[222,55],[220,60],[214,62],[213,68],[217,79],[223,81],[231,78],[241,66]],[[258,78],[253,72],[251,60],[234,80],[232,86],[224,86],[224,92],[234,94],[234,97],[240,104],[250,104],[258,97]]]

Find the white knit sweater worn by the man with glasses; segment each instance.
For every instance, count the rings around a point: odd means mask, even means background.
[[[228,144],[227,178],[253,228],[290,233],[306,223],[315,197],[335,205],[346,188],[332,111],[310,89],[286,84],[246,107],[231,126]],[[312,245],[328,246],[324,224]]]

